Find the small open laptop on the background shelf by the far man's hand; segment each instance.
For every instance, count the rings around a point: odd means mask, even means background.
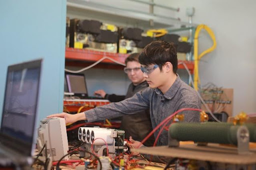
[[[67,90],[80,99],[101,99],[101,97],[88,96],[84,74],[65,73]]]

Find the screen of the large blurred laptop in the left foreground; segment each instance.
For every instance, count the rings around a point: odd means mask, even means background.
[[[35,130],[40,66],[41,60],[35,60],[11,65],[7,70],[0,135],[27,155]]]

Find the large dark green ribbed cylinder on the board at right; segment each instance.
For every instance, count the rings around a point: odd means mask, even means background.
[[[256,125],[244,124],[249,131],[250,142],[256,141]],[[240,126],[228,123],[174,123],[169,128],[169,136],[178,141],[237,144],[236,133]]]

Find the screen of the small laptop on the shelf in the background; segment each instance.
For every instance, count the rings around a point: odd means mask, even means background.
[[[74,94],[87,94],[85,78],[83,74],[66,73],[66,84],[68,92]]]

